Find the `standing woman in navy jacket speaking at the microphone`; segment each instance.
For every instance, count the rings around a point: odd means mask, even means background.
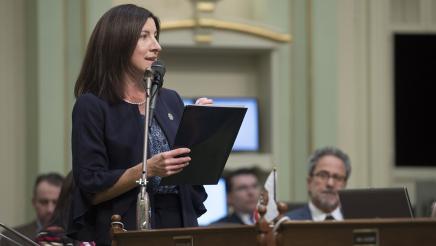
[[[132,4],[106,12],[90,37],[74,93],[72,156],[76,183],[69,235],[110,245],[111,216],[136,228],[136,183],[142,175],[146,92],[144,72],[161,51],[159,20]],[[209,104],[201,98],[199,104]],[[177,92],[159,91],[148,134],[147,192],[151,227],[197,226],[207,194],[198,185],[160,185],[160,178],[189,165],[188,148],[173,149],[183,102]],[[181,157],[180,157],[181,156]]]

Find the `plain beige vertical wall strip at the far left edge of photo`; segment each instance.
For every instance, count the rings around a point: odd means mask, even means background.
[[[0,7],[0,222],[25,221],[26,38],[24,1]],[[17,209],[18,208],[18,209]]]

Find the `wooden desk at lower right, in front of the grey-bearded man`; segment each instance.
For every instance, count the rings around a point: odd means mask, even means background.
[[[290,221],[280,225],[275,238],[277,246],[435,246],[436,220]]]

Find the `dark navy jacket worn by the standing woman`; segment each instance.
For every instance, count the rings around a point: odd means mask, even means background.
[[[156,102],[155,119],[172,147],[183,114],[183,101],[172,90],[162,88]],[[111,187],[127,168],[142,162],[144,120],[137,105],[124,101],[109,103],[94,94],[77,98],[73,109],[72,156],[74,191],[68,234],[80,241],[109,245],[113,214],[121,215],[125,229],[136,229],[136,200],[139,188],[132,189],[96,206],[93,194]],[[150,156],[149,156],[150,157]],[[151,225],[154,197],[150,195]],[[183,225],[197,226],[206,209],[203,186],[179,185]]]

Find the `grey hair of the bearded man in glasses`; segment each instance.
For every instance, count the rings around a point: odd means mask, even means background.
[[[340,150],[339,148],[327,146],[320,149],[315,150],[312,155],[309,157],[309,176],[313,175],[313,171],[315,170],[316,165],[318,164],[319,159],[326,155],[332,155],[342,160],[345,166],[345,178],[348,180],[348,177],[351,174],[351,161],[348,155]]]

